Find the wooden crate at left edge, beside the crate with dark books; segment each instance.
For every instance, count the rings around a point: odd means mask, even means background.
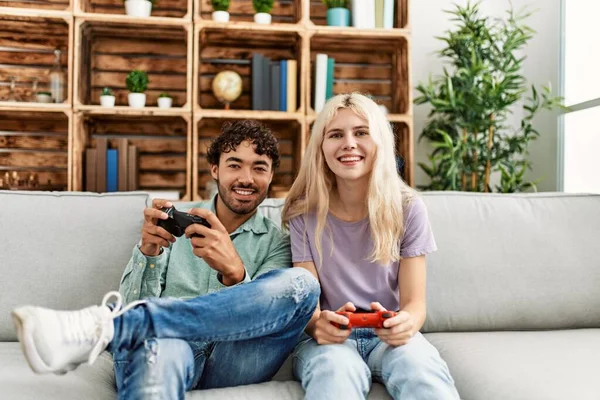
[[[8,173],[18,175],[19,189],[68,190],[70,111],[0,110],[0,190]],[[13,188],[17,188],[14,187]]]

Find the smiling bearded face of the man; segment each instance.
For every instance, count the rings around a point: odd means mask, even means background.
[[[211,165],[217,181],[219,197],[232,212],[244,215],[254,212],[267,197],[273,179],[272,160],[258,155],[256,146],[243,141],[233,151],[222,153],[219,165]]]

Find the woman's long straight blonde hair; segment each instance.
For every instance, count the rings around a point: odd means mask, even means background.
[[[344,108],[368,121],[369,134],[377,145],[366,202],[373,238],[369,260],[387,265],[390,261],[400,260],[399,241],[404,233],[403,204],[410,201],[415,191],[398,176],[392,127],[379,106],[367,96],[359,93],[337,95],[317,116],[298,177],[283,207],[283,223],[287,227],[289,221],[298,215],[316,213],[315,245],[322,262],[321,236],[329,212],[329,193],[336,187],[336,179],[327,166],[321,147],[325,128]]]

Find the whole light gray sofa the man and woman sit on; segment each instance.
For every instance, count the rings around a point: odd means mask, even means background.
[[[600,196],[423,194],[439,250],[423,328],[465,400],[600,399]],[[0,191],[0,398],[114,399],[108,354],[35,376],[10,310],[76,309],[118,287],[145,194]],[[183,205],[182,205],[183,206]],[[263,212],[277,219],[281,201]],[[188,399],[301,399],[290,360],[272,382]],[[370,399],[389,398],[374,384]]]

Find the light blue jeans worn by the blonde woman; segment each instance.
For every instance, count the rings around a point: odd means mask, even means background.
[[[398,347],[368,328],[353,329],[342,344],[319,345],[305,335],[293,361],[308,400],[366,399],[372,380],[396,400],[459,399],[448,366],[420,332]]]

